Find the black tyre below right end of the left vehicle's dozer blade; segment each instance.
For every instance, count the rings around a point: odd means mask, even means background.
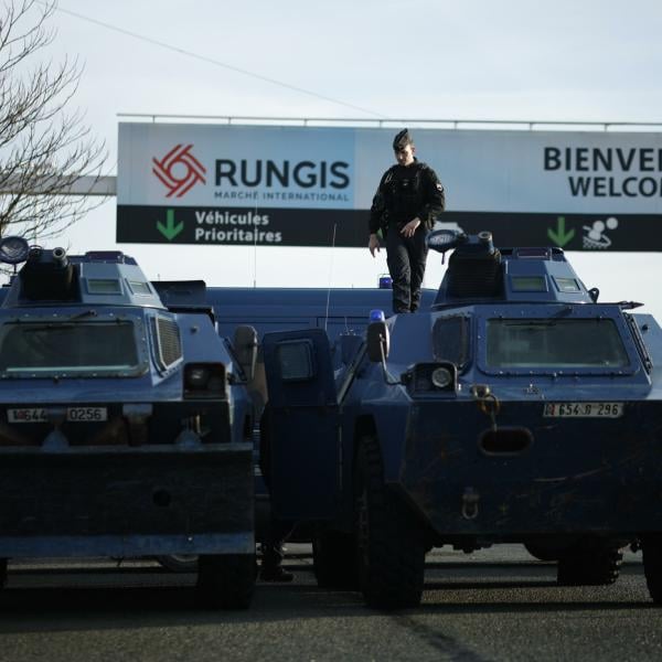
[[[206,607],[247,609],[254,588],[254,554],[200,556],[197,594]]]

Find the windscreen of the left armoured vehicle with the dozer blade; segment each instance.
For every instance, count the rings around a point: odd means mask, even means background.
[[[8,322],[0,328],[4,374],[89,373],[138,367],[130,321]]]

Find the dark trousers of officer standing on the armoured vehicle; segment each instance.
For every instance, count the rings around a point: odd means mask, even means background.
[[[404,237],[399,231],[393,227],[386,234],[386,263],[393,280],[393,312],[414,312],[420,305],[427,231],[419,225],[413,237]]]

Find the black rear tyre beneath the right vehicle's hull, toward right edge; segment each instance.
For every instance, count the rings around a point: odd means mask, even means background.
[[[608,586],[620,575],[622,552],[608,543],[577,544],[558,558],[559,586]]]

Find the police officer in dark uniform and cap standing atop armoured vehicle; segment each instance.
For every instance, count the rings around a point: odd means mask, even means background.
[[[420,303],[425,274],[425,238],[435,217],[446,206],[444,186],[436,172],[414,156],[412,135],[403,129],[393,139],[397,163],[382,177],[370,210],[371,255],[386,242],[386,261],[393,280],[393,311],[414,312]]]

